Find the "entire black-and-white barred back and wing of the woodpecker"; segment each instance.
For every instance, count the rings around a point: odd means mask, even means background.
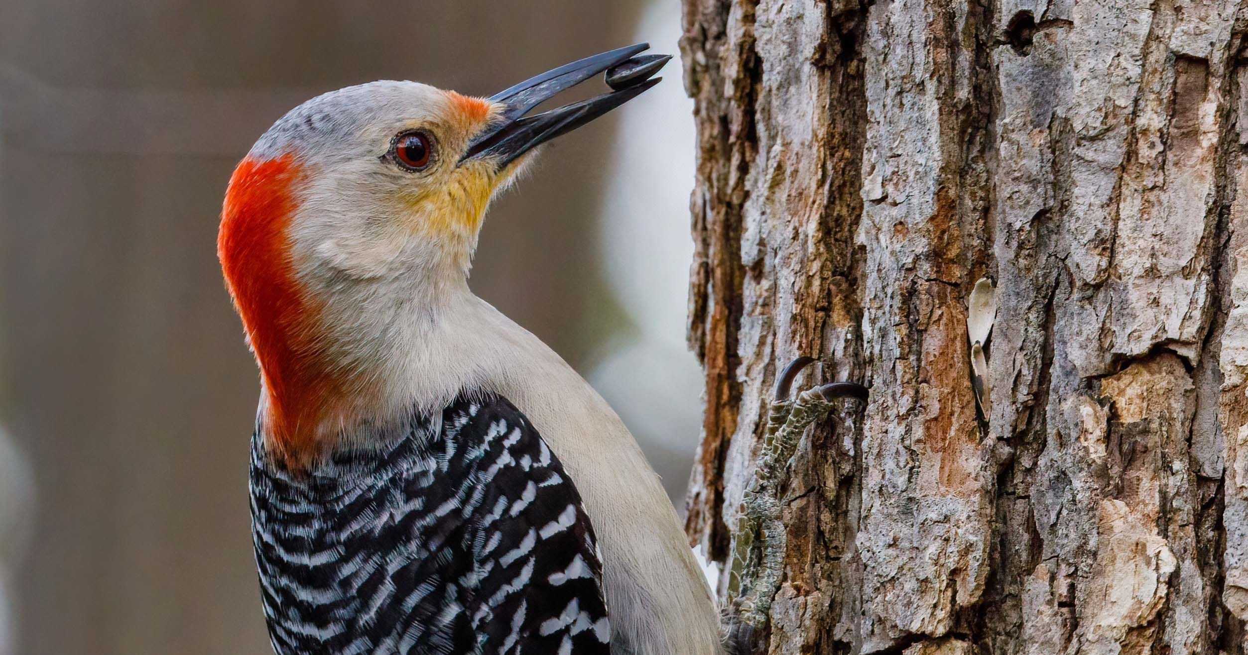
[[[252,530],[280,655],[605,655],[580,494],[497,395],[285,470],[252,439]]]

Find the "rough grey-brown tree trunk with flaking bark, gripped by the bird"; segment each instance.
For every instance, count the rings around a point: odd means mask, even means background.
[[[731,569],[778,369],[871,388],[748,650],[1244,653],[1248,6],[684,4],[694,541]]]

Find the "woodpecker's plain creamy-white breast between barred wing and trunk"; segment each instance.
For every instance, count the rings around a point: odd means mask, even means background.
[[[422,333],[402,338],[407,354],[394,363],[404,371],[394,379],[407,384],[392,398],[433,408],[466,387],[508,398],[580,490],[603,551],[615,638],[636,655],[720,653],[718,613],[675,509],[610,405],[540,339],[470,293],[421,323]]]

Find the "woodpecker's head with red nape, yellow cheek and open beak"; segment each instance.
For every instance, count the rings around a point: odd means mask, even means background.
[[[485,210],[533,148],[653,86],[661,61],[612,92],[529,110],[646,47],[490,97],[409,81],[341,89],[261,136],[230,180],[217,253],[260,364],[272,452],[306,464],[361,414],[379,376],[367,354],[376,344],[362,341],[466,289]]]

